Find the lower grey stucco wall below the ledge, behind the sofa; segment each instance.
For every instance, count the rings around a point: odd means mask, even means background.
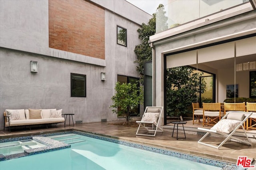
[[[102,67],[2,48],[0,61],[1,112],[56,108],[83,122],[116,119],[108,108],[113,90],[100,80]],[[38,61],[38,72],[30,72],[30,61]],[[70,97],[70,73],[86,74],[86,98]]]

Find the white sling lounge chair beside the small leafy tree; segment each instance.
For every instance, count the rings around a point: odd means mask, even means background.
[[[139,124],[136,135],[156,136],[156,132],[163,132],[162,110],[162,106],[147,106],[141,121],[136,121]],[[144,133],[142,133],[140,127],[143,127],[147,131],[143,131]]]

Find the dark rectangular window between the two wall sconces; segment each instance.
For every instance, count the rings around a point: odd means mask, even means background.
[[[86,75],[71,73],[71,97],[86,97]]]

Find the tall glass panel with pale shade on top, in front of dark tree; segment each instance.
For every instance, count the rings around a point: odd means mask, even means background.
[[[196,72],[197,51],[166,57],[166,121],[179,115],[192,117],[192,102],[199,101],[200,72]],[[156,94],[157,95],[157,94]]]

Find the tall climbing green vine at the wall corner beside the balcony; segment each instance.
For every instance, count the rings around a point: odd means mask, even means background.
[[[164,5],[160,4],[157,9],[161,8],[160,11],[158,11],[158,16],[160,15],[160,12],[162,12],[162,15],[165,16],[166,12],[164,12]],[[162,17],[164,18],[164,17]],[[166,17],[167,18],[167,17]],[[166,20],[167,24],[167,20]],[[138,63],[137,71],[140,72],[140,83],[144,83],[144,63],[146,61],[152,60],[152,48],[150,47],[150,44],[148,43],[149,37],[151,35],[154,35],[156,33],[156,13],[153,14],[153,18],[151,18],[148,21],[148,24],[142,23],[141,29],[137,30],[139,33],[139,39],[141,39],[142,43],[140,45],[136,45],[134,52],[137,55],[137,60],[134,61],[134,63]]]

